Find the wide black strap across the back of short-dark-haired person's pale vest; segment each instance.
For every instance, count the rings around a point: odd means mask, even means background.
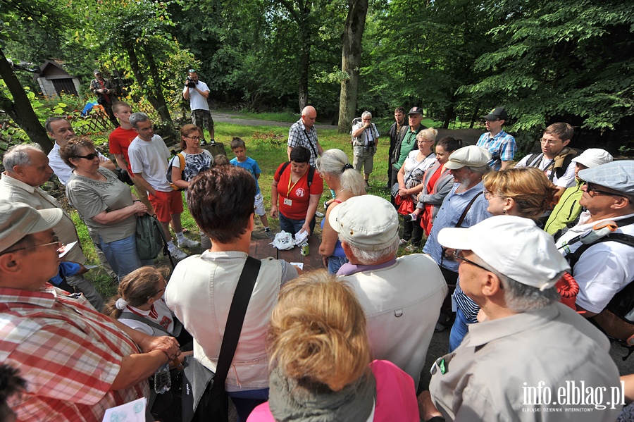
[[[249,300],[251,300],[251,294],[253,293],[253,287],[255,286],[256,278],[258,278],[261,265],[262,263],[259,259],[247,256],[247,261],[244,263],[244,268],[242,268],[242,274],[240,274],[240,280],[238,280],[235,287],[227,324],[225,325],[223,343],[220,345],[216,375],[213,376],[212,403],[225,393],[225,380],[235,355],[237,342],[240,340],[244,315],[247,314],[247,306],[249,306]]]

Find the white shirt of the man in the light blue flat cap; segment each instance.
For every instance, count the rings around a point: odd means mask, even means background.
[[[557,247],[582,235],[592,229],[592,226],[603,221],[619,223],[623,218],[632,217],[634,214],[604,220],[590,220],[590,212],[584,211],[579,217],[579,223],[557,239]],[[634,235],[634,224],[616,229],[617,233]],[[569,245],[570,252],[575,252],[581,242]],[[562,247],[561,254],[566,254]],[[579,285],[577,304],[583,309],[598,314],[603,311],[614,294],[623,290],[630,281],[634,280],[634,247],[619,242],[601,242],[586,250],[577,261],[572,274]]]

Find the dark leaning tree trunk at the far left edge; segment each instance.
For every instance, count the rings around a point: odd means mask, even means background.
[[[6,111],[6,113],[13,119],[16,125],[22,128],[29,139],[36,144],[39,144],[46,154],[53,149],[53,142],[46,135],[46,129],[39,122],[37,114],[31,106],[29,97],[20,84],[18,77],[13,73],[11,65],[4,56],[4,51],[0,49],[0,77],[6,83],[6,87],[13,96],[13,101],[0,92],[0,108]]]

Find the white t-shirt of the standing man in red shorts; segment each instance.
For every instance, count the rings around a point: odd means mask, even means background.
[[[162,137],[154,135],[149,142],[135,137],[128,147],[128,156],[130,156],[132,173],[141,173],[154,190],[173,191],[166,177],[170,151]]]

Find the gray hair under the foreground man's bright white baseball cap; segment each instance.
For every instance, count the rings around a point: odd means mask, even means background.
[[[525,285],[506,277],[506,275],[499,273],[496,270],[491,269],[490,265],[485,263],[479,256],[473,256],[473,261],[481,263],[485,268],[490,268],[489,271],[497,275],[500,283],[502,283],[502,289],[504,290],[504,302],[506,307],[514,312],[527,312],[535,309],[542,309],[546,306],[550,306],[554,302],[559,301],[559,293],[553,286],[549,289],[539,290],[537,287]],[[559,279],[564,272],[559,274],[556,278]]]

